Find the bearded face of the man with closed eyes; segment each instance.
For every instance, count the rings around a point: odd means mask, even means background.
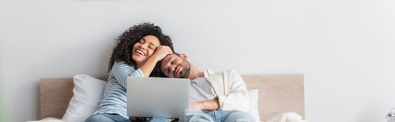
[[[191,64],[175,54],[167,55],[160,63],[160,71],[169,78],[188,78],[191,72]]]

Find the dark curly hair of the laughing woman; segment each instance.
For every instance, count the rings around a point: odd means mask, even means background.
[[[134,65],[135,61],[132,59],[133,45],[148,35],[155,36],[158,38],[160,45],[169,46],[174,51],[172,40],[169,36],[162,33],[162,29],[159,26],[155,26],[150,22],[143,22],[130,27],[116,39],[117,42],[112,51],[110,62],[108,62],[108,72],[111,71],[114,63],[119,60],[124,60],[129,66]],[[159,63],[156,63],[150,77],[162,76]]]

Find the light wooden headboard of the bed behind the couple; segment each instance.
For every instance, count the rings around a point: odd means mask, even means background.
[[[248,90],[259,89],[261,120],[267,121],[277,114],[290,111],[305,118],[304,75],[244,75],[242,78]],[[41,78],[41,119],[62,118],[74,95],[73,88],[73,78]]]

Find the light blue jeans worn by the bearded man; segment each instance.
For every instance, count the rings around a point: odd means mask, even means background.
[[[210,121],[210,122],[233,122],[233,121],[251,121],[255,120],[251,115],[245,112],[230,111],[211,111],[204,113],[200,110],[186,109],[180,115],[180,122],[183,121]]]

